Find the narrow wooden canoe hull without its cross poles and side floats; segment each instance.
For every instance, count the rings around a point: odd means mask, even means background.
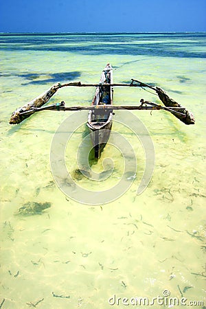
[[[96,87],[96,93],[92,101],[93,106],[113,105],[113,87],[105,84],[113,84],[113,69],[109,63],[102,71],[100,84]],[[113,124],[113,110],[108,108],[96,108],[89,111],[87,126],[91,133],[95,158],[99,159],[106,145]]]

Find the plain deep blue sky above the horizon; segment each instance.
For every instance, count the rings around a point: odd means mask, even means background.
[[[204,32],[206,0],[0,0],[0,32]]]

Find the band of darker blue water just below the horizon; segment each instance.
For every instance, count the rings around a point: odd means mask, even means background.
[[[205,36],[205,33],[4,34],[0,43],[2,49],[10,51],[205,58]]]

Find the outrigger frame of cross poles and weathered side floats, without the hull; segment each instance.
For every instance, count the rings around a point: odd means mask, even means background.
[[[136,80],[133,80],[135,81]],[[137,81],[139,82],[139,81]],[[52,98],[52,95],[54,95],[54,93],[56,93],[56,91],[62,87],[100,87],[100,84],[81,84],[81,82],[69,82],[67,84],[54,84],[51,88],[49,88],[45,93],[42,93],[41,95],[39,95],[37,98],[35,98],[34,100],[32,100],[31,102],[25,104],[24,106],[17,108],[16,111],[14,111],[11,115],[10,118],[10,124],[19,124],[21,123],[24,119],[26,119],[27,117],[30,117],[30,115],[38,112],[38,111],[82,111],[82,110],[92,110],[93,108],[97,108],[96,106],[65,106],[65,103],[62,102],[61,103],[57,103],[57,104],[52,104],[52,105],[48,105],[48,106],[43,106],[44,104],[46,104],[50,98]],[[143,99],[141,99],[141,105],[140,106],[115,106],[113,105],[112,108],[113,110],[116,109],[128,109],[128,110],[139,110],[139,111],[144,111],[144,110],[160,110],[160,109],[164,109],[165,111],[170,111],[170,113],[175,113],[176,115],[181,115],[183,117],[183,119],[181,119],[182,122],[184,122],[185,124],[194,124],[195,120],[194,117],[192,115],[192,113],[190,113],[189,111],[187,111],[187,109],[183,106],[181,106],[181,104],[175,102],[174,100],[172,100],[171,98],[168,97],[168,95],[165,93],[165,91],[163,91],[161,88],[159,87],[152,87],[148,84],[145,84],[144,82],[139,82],[139,84],[133,84],[133,82],[131,82],[130,84],[106,84],[106,86],[109,87],[149,87],[152,90],[155,90],[159,97],[160,100],[163,102],[163,104],[165,104],[165,106],[153,103],[153,102],[149,102],[149,101],[144,101]],[[144,104],[149,104],[152,106],[144,106]],[[166,105],[167,104],[167,105]],[[41,107],[43,106],[43,107]],[[98,106],[98,108],[105,108],[108,106]]]

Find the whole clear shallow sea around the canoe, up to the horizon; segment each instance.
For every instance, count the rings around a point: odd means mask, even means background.
[[[126,306],[122,299],[151,301],[163,297],[164,290],[170,297],[185,297],[187,304],[204,301],[206,306],[205,43],[205,33],[0,35],[3,309],[147,308]],[[115,82],[136,78],[165,89],[192,111],[196,124],[186,126],[164,111],[133,111],[155,148],[152,179],[137,195],[146,164],[144,149],[137,136],[117,122],[124,111],[115,112],[113,130],[133,145],[137,174],[115,201],[83,205],[59,190],[49,163],[52,139],[69,112],[36,113],[14,126],[8,122],[12,111],[55,82],[98,82],[107,62],[113,65]],[[68,87],[50,102],[88,106],[94,93],[93,88]],[[139,104],[141,98],[159,102],[144,89],[115,88],[115,104]],[[78,128],[67,146],[71,172],[77,169],[78,144],[86,131]],[[81,152],[84,155],[84,149]],[[122,175],[121,152],[106,145],[92,168],[102,172],[108,157],[115,165],[111,176],[98,185],[87,177],[76,183],[96,191],[113,187]],[[23,212],[32,203],[51,207]],[[113,299],[109,304],[110,297],[120,297],[119,304]],[[152,307],[171,307],[166,299]]]

